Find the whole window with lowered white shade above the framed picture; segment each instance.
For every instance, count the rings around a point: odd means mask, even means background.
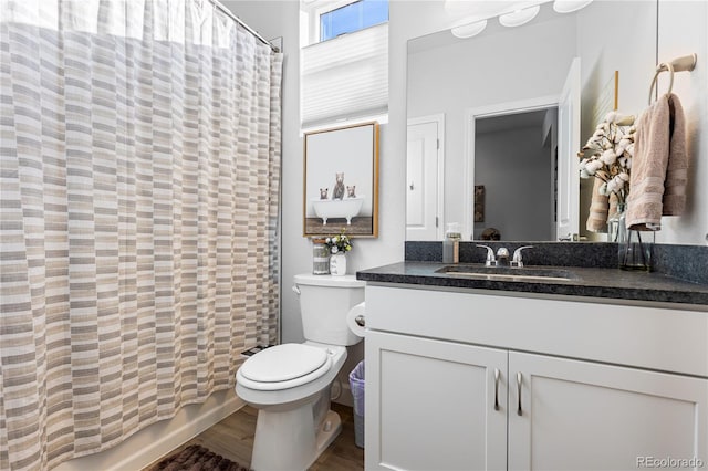
[[[388,114],[388,0],[301,2],[301,129]]]

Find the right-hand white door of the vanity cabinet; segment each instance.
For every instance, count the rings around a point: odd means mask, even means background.
[[[708,464],[707,379],[520,353],[509,377],[509,469]]]

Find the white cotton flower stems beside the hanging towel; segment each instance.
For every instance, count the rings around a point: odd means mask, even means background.
[[[610,112],[597,125],[577,156],[581,178],[598,178],[603,181],[600,193],[615,195],[617,202],[626,202],[629,193],[629,172],[634,156],[634,116]]]

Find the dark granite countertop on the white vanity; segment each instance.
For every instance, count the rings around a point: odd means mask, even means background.
[[[465,266],[466,264],[459,265]],[[467,265],[483,268],[480,264]],[[662,273],[608,268],[559,266],[558,269],[570,272],[573,279],[516,281],[436,272],[444,266],[449,266],[449,264],[407,261],[362,270],[356,273],[356,278],[377,283],[677,303],[698,306],[700,311],[708,312],[708,284],[691,283]],[[543,266],[543,269],[552,269],[552,266]],[[681,306],[677,305],[676,307],[680,308]]]

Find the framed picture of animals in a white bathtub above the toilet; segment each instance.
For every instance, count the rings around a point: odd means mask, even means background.
[[[304,136],[303,236],[378,236],[378,123]]]

